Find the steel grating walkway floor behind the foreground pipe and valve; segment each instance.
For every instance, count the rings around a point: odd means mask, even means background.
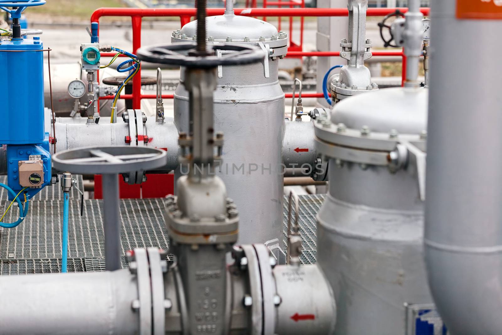
[[[0,182],[3,180],[0,179]],[[78,180],[81,185],[81,178]],[[300,226],[303,238],[302,262],[315,263],[316,222],[324,196],[302,195]],[[61,229],[63,201],[60,187],[46,187],[30,201],[30,210],[21,225],[0,229],[0,274],[59,272],[61,266]],[[287,232],[288,203],[284,201],[284,239]],[[0,191],[0,208],[7,208],[7,194]],[[102,200],[84,200],[80,216],[80,195],[70,195],[68,271],[104,271],[104,235]],[[141,247],[168,248],[163,199],[122,199],[121,247],[126,251]],[[11,208],[5,221],[17,219],[18,209]],[[125,256],[122,266],[127,267]]]

